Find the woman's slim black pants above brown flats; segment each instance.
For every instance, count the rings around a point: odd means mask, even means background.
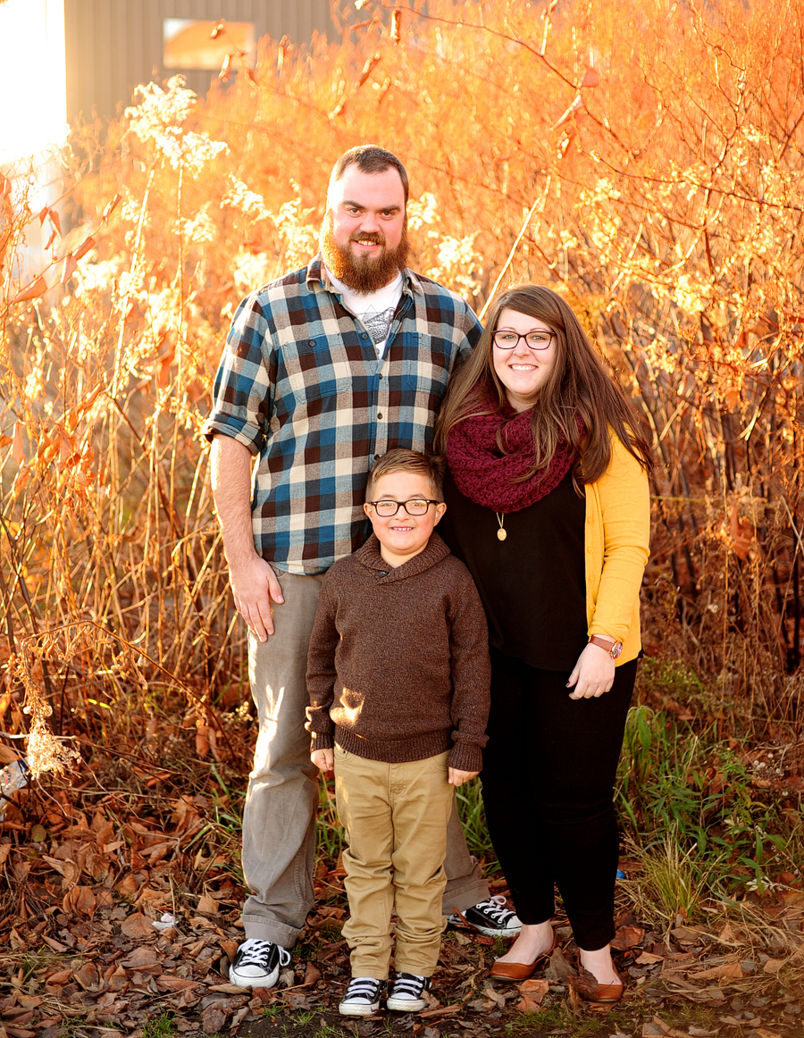
[[[481,777],[494,849],[522,922],[550,919],[555,882],[589,952],[614,936],[613,790],[636,672],[636,660],[623,663],[611,691],[571,700],[569,673],[492,650]]]

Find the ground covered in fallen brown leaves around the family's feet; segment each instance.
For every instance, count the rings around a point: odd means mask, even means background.
[[[752,907],[751,920],[761,912],[767,923],[761,946],[748,927],[722,919],[711,927],[681,923],[662,939],[623,905],[614,944],[627,993],[612,1009],[579,998],[565,925],[563,949],[547,968],[506,986],[489,980],[501,946],[452,930],[423,1013],[355,1022],[337,1014],[349,978],[342,870],[318,865],[317,909],[279,986],[246,992],[226,979],[242,936],[230,861],[237,841],[205,856],[199,839],[220,825],[213,810],[220,817],[220,799],[177,797],[163,824],[116,794],[92,813],[70,808],[65,790],[59,799],[66,823],[48,816],[3,823],[12,839],[0,845],[11,908],[0,921],[0,1038],[804,1034],[804,893]],[[190,863],[204,877],[202,893],[183,881]],[[497,891],[504,893],[501,881]]]

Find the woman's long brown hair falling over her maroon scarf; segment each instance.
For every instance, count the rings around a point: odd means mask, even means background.
[[[594,483],[611,461],[609,427],[649,471],[650,446],[622,386],[595,352],[564,300],[552,289],[538,284],[508,289],[495,300],[480,340],[449,380],[436,427],[436,449],[446,450],[449,431],[460,422],[501,412],[508,406],[492,354],[492,334],[506,308],[544,321],[556,332],[558,342],[555,361],[531,410],[535,462],[525,479],[546,468],[559,441],[564,440],[579,460],[575,470],[577,482]],[[579,418],[583,427],[579,426]],[[500,433],[498,446],[504,453]]]

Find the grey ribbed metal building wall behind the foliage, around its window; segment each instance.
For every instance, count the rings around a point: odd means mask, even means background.
[[[131,102],[138,83],[182,73],[187,85],[204,94],[216,73],[165,70],[162,23],[166,18],[252,22],[256,37],[293,43],[313,30],[332,38],[330,0],[64,0],[67,120],[93,115],[108,120]]]

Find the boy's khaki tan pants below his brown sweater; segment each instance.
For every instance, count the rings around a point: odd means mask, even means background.
[[[453,798],[448,756],[386,764],[335,746],[335,799],[349,843],[343,936],[353,977],[387,979],[394,907],[396,973],[433,976],[445,926],[441,898]]]

